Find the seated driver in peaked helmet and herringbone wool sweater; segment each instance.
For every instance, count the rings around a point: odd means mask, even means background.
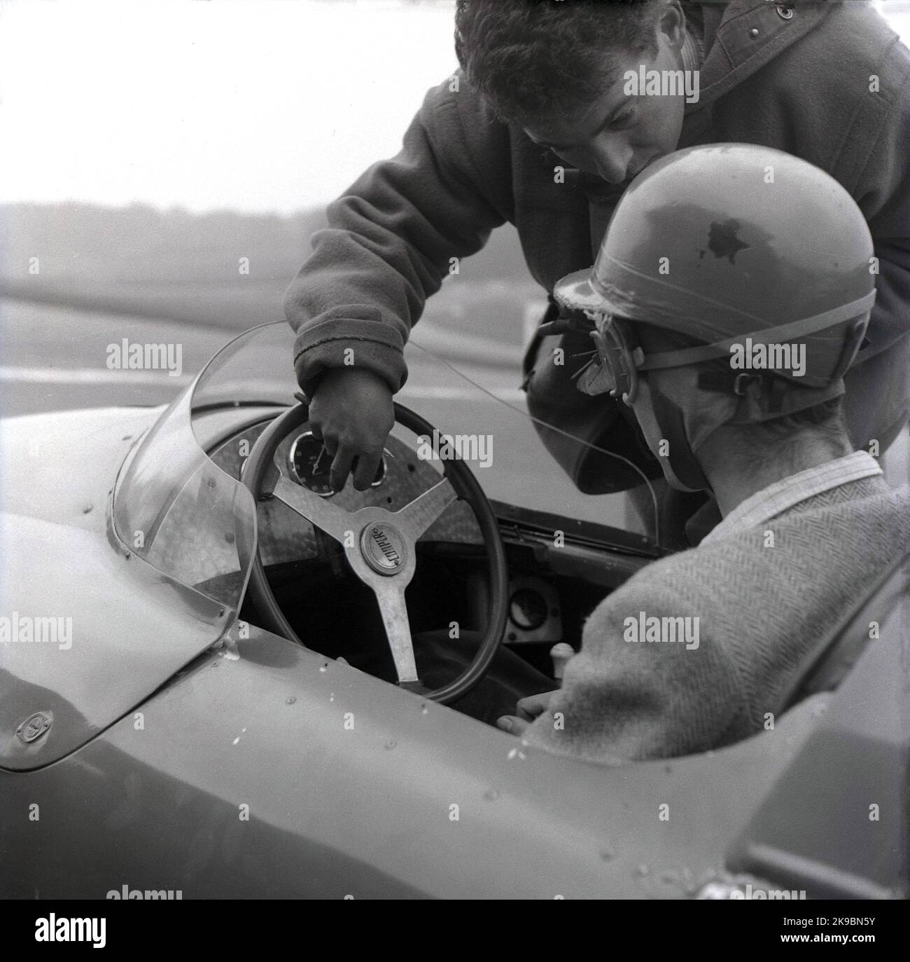
[[[780,151],[693,147],[631,184],[595,266],[555,286],[597,351],[578,388],[621,399],[667,481],[724,519],[609,595],[562,689],[501,727],[590,761],[663,758],[760,731],[803,690],[910,552],[910,489],[854,450],[842,409],[872,264],[849,193]]]

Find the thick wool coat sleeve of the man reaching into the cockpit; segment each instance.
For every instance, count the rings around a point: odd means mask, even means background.
[[[352,358],[398,391],[408,334],[450,259],[476,253],[504,223],[507,128],[484,112],[460,72],[453,77],[457,85],[449,78],[430,89],[401,151],[332,202],[329,226],[313,235],[313,252],[285,294],[307,394],[325,368]]]

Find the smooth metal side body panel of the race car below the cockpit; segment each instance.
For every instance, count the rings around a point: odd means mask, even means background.
[[[78,752],[6,776],[7,894],[691,896],[819,704],[722,751],[606,767],[248,630]]]

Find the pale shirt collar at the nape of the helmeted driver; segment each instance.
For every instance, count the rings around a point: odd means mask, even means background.
[[[836,461],[828,461],[816,468],[791,474],[790,477],[775,481],[740,502],[702,539],[701,544],[729,538],[775,518],[816,494],[823,494],[850,481],[860,481],[881,473],[878,462],[871,454],[867,451],[854,451]]]

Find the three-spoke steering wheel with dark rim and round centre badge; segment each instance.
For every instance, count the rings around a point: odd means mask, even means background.
[[[379,602],[398,684],[443,704],[458,700],[488,671],[503,642],[508,610],[508,569],[503,540],[486,494],[463,461],[448,459],[441,461],[443,479],[399,511],[373,506],[348,511],[298,484],[290,477],[284,459],[275,458],[283,440],[306,424],[308,417],[307,405],[298,404],[272,421],[250,451],[241,474],[243,484],[257,501],[269,494],[279,498],[341,544],[352,570],[373,590]],[[439,437],[428,421],[400,404],[395,405],[395,420],[415,435],[433,441]],[[430,691],[417,676],[405,589],[416,568],[417,539],[457,498],[474,512],[483,536],[489,582],[486,630],[474,660],[465,671],[449,684]],[[275,599],[258,550],[250,573],[250,595],[266,628],[304,646]]]

